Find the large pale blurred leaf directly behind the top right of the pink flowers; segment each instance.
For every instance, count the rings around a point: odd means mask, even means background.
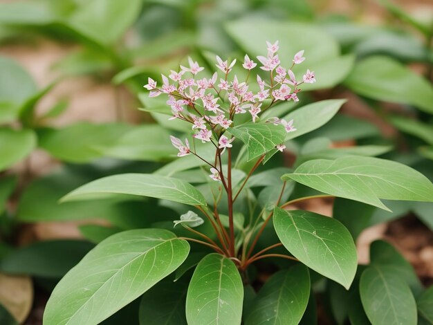
[[[307,90],[335,86],[344,80],[353,64],[353,57],[340,56],[339,46],[331,35],[311,24],[243,19],[230,22],[226,30],[250,57],[266,55],[266,41],[279,40],[278,53],[286,68],[291,67],[295,53],[305,50],[305,62],[297,64],[293,71],[299,76],[307,68],[315,71],[317,82],[302,85]]]

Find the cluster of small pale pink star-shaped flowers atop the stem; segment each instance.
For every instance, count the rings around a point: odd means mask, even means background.
[[[250,114],[252,122],[259,120],[259,114],[263,113],[270,106],[277,102],[293,100],[299,101],[297,93],[298,86],[303,83],[315,82],[315,75],[307,69],[302,80],[297,80],[292,71],[295,64],[304,62],[304,50],[296,53],[290,68],[281,66],[277,51],[278,41],[274,44],[266,42],[268,53],[265,56],[258,56],[257,59],[262,71],[269,73],[269,82],[262,80],[257,74],[256,87],[250,87],[248,79],[252,69],[257,66],[248,55],[243,58],[242,67],[246,69],[246,80],[239,81],[237,75],[229,79],[237,60],[232,62],[223,61],[216,56],[216,68],[221,73],[215,72],[210,79],[198,77],[204,70],[198,62],[188,58],[189,67],[180,66],[179,71],[170,71],[167,76],[162,75],[163,84],[158,86],[155,80],[149,77],[148,84],[144,87],[149,90],[150,97],[167,94],[167,105],[172,109],[172,119],[180,119],[192,124],[194,131],[193,138],[202,142],[212,142],[219,154],[223,154],[226,148],[232,147],[234,138],[228,138],[224,133],[229,127],[233,127],[237,115]],[[258,89],[253,91],[252,88]],[[293,127],[293,120],[286,121],[279,118],[271,118],[266,122],[282,124],[287,132],[296,131]],[[190,144],[185,139],[185,144],[174,136],[171,137],[172,144],[178,149],[178,156],[195,154]],[[285,148],[284,144],[277,145],[280,151]],[[219,171],[212,168],[210,177],[214,180],[221,180]]]

